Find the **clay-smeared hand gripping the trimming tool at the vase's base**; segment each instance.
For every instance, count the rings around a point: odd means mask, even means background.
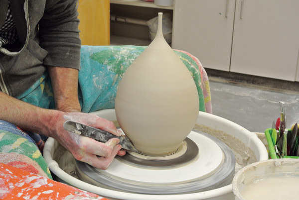
[[[57,127],[57,138],[55,139],[71,152],[77,160],[105,170],[116,155],[123,156],[126,154],[125,150],[121,150],[122,146],[118,144],[120,142],[118,138],[112,138],[106,143],[97,142],[89,137],[80,136],[64,130],[63,123],[66,120],[99,128],[117,136],[121,136],[122,132],[115,127],[113,122],[94,114],[82,112],[65,113],[59,122],[57,122],[57,126],[59,127]]]

